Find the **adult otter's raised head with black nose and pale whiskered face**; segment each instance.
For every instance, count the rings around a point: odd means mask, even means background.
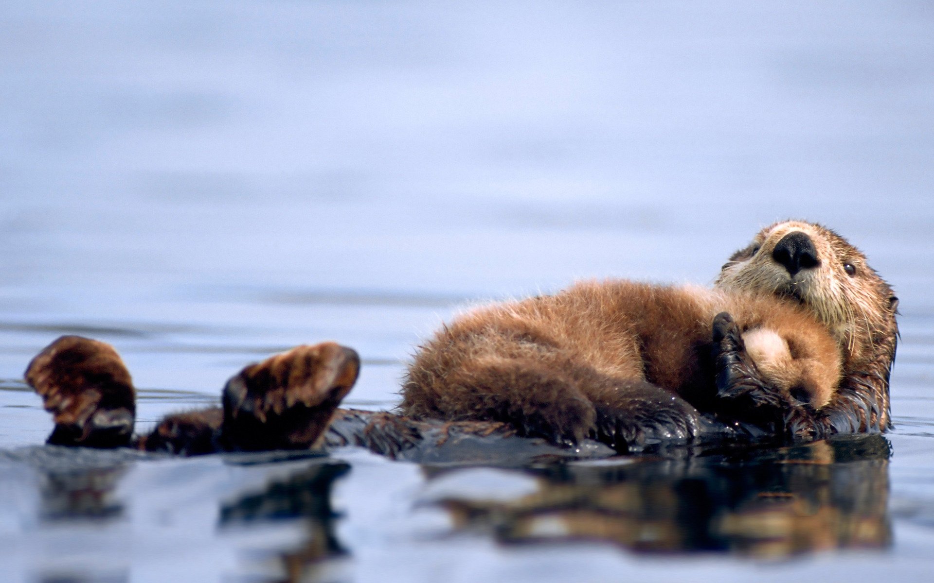
[[[830,229],[801,221],[775,223],[723,266],[715,285],[789,298],[814,313],[840,345],[846,363],[879,349],[894,358],[899,298],[866,256]]]

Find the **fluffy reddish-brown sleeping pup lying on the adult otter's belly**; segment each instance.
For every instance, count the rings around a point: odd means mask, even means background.
[[[803,395],[814,409],[828,403],[839,351],[800,308],[759,295],[610,281],[462,315],[416,355],[400,409],[416,418],[510,423],[523,435],[557,441],[598,437],[619,447],[600,428],[631,415],[633,391],[644,395],[646,383],[656,387],[659,413],[674,396],[715,409],[718,312],[732,314],[742,331],[770,330],[792,348],[760,370],[778,391]],[[675,418],[690,414],[672,411]]]

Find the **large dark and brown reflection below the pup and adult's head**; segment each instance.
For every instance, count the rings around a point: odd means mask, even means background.
[[[885,548],[888,441],[835,437],[791,447],[701,451],[531,470],[538,490],[508,502],[447,495],[457,529],[504,543],[591,539],[640,552],[781,558]],[[429,474],[447,474],[428,468]]]

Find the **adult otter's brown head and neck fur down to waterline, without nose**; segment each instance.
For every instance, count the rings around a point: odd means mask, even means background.
[[[794,232],[814,243],[817,264],[791,275],[773,252]],[[852,266],[852,274],[845,265]],[[820,225],[775,223],[730,257],[715,286],[800,304],[833,334],[842,352],[843,378],[814,417],[818,434],[884,431],[891,425],[888,379],[899,337],[899,299],[856,247]]]

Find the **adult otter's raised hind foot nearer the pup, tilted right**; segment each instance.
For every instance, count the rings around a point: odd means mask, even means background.
[[[322,342],[250,365],[223,391],[225,449],[305,449],[327,429],[360,372],[353,350]]]

